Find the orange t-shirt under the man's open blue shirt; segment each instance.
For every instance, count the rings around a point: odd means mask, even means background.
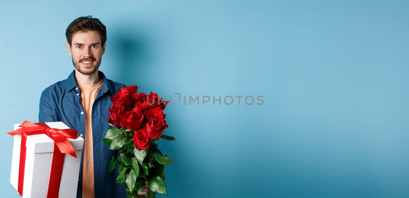
[[[93,155],[93,143],[92,143],[92,104],[95,101],[98,91],[103,85],[103,80],[97,84],[83,84],[76,82],[81,92],[80,103],[84,108],[85,113],[85,135],[84,135],[84,149],[83,149],[83,162],[82,162],[82,197],[83,198],[95,198],[95,186],[94,186],[94,155]]]

